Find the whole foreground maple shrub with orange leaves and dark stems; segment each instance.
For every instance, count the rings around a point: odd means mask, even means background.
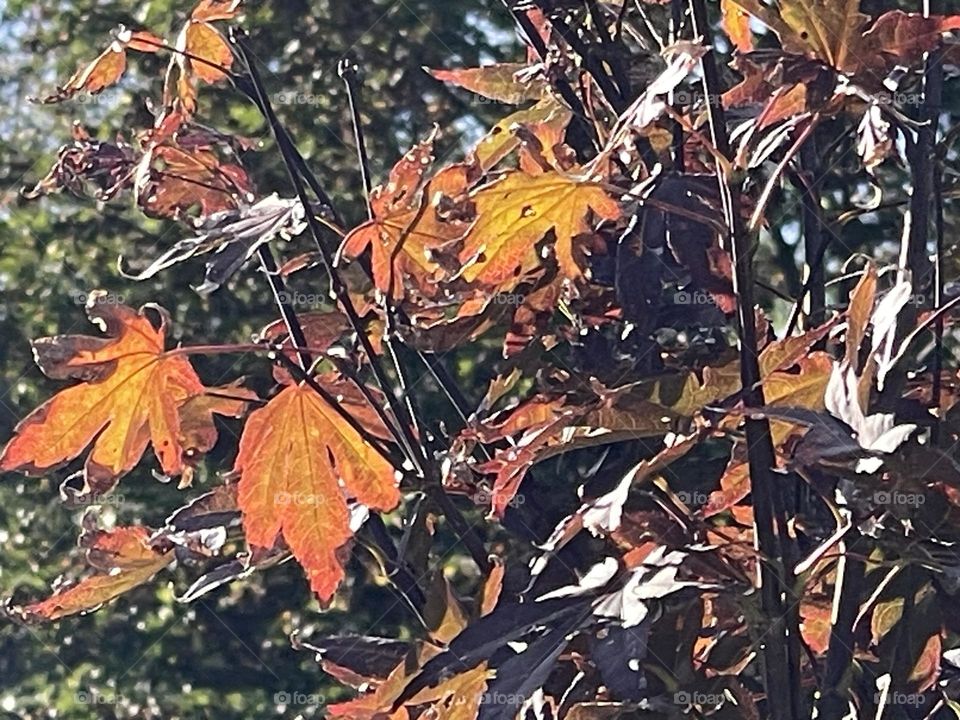
[[[322,608],[378,581],[412,622],[395,638],[376,622],[297,636],[356,691],[304,712],[960,707],[939,137],[960,16],[724,0],[728,81],[702,0],[567,5],[507,3],[526,62],[430,71],[517,107],[462,159],[438,152],[436,127],[412,142],[359,222],[278,115],[237,0],[201,0],[167,39],[121,26],[43,96],[95,97],[162,56],[149,122],[112,139],[75,126],[26,195],[127,199],[180,239],[154,258],[125,247],[121,274],[203,256],[200,296],[253,273],[262,291],[243,306],[279,317],[238,339],[178,308],[190,332],[174,344],[167,311],[103,290],[85,303],[103,337],[33,340],[67,384],[17,425],[0,469],[66,468],[61,494],[91,507],[89,572],[11,600],[12,621],[73,622],[170,566],[196,569],[179,599],[202,604],[292,560]],[[340,70],[369,185],[355,69]],[[289,184],[264,184],[257,142],[201,124],[207,86],[249,101]],[[833,172],[849,151],[852,173]],[[896,263],[828,252],[834,228],[881,209],[828,216],[834,180],[906,208]],[[766,313],[761,251],[796,265],[791,222],[804,280],[788,315]],[[203,363],[250,355],[245,376],[201,380]],[[123,478],[153,462],[148,445],[187,499],[162,523],[109,527],[97,508],[145,480]],[[467,572],[445,572],[452,538]],[[357,572],[355,554],[373,562]]]

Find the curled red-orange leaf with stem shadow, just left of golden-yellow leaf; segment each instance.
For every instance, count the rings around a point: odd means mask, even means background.
[[[403,297],[405,280],[433,296],[438,289],[435,276],[441,269],[433,251],[457,240],[466,230],[462,221],[444,219],[439,211],[445,198],[466,190],[469,168],[453,165],[424,182],[434,159],[436,137],[434,130],[393,167],[387,183],[370,196],[374,219],[350,232],[340,247],[339,254],[347,258],[359,257],[369,247],[374,283],[393,298]]]

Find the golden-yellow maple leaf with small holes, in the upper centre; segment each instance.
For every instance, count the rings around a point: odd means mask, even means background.
[[[578,236],[592,232],[592,211],[614,220],[620,205],[599,185],[559,172],[510,172],[470,194],[477,219],[464,237],[460,277],[509,292],[541,265],[537,245],[551,231],[561,272],[583,278]]]

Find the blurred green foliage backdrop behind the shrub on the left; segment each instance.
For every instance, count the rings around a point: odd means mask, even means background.
[[[364,75],[363,120],[376,178],[433,123],[447,131],[446,150],[455,153],[458,143],[475,139],[490,117],[502,113],[448,90],[421,68],[516,57],[509,18],[488,12],[486,5],[481,0],[248,3],[246,26],[281,119],[351,222],[363,209],[338,61],[352,57]],[[92,289],[107,289],[135,306],[162,304],[173,314],[177,338],[194,343],[242,342],[274,319],[266,284],[252,269],[208,300],[187,287],[201,280],[202,263],[140,284],[119,275],[120,254],[134,262],[153,258],[181,237],[179,226],[149,221],[124,201],[97,207],[64,195],[34,202],[18,195],[50,166],[74,119],[104,139],[117,128],[129,136],[152,124],[143,98],[158,95],[165,60],[132,57],[119,88],[86,102],[38,106],[27,97],[46,94],[78,63],[94,57],[118,23],[164,34],[191,7],[167,0],[0,0],[0,437],[9,437],[16,422],[57,388],[33,365],[29,338],[92,330],[82,307]],[[230,88],[206,88],[200,119],[262,138],[262,152],[245,162],[262,192],[290,194],[279,154],[252,106]],[[288,256],[307,249],[291,247]],[[215,358],[201,362],[200,372],[215,383],[245,372],[265,376],[267,367],[253,357]],[[141,469],[124,479],[114,504],[101,509],[104,519],[162,522],[216,482],[216,466],[229,467],[236,442],[229,428],[225,435],[222,452],[214,454],[197,487],[180,492]],[[43,596],[57,575],[80,569],[74,544],[83,511],[65,507],[57,492],[66,474],[0,481],[3,597]],[[329,701],[338,690],[310,653],[291,649],[291,631],[399,637],[407,632],[404,611],[374,584],[348,590],[321,615],[291,563],[193,605],[179,604],[175,595],[199,573],[199,568],[165,572],[109,611],[53,626],[0,620],[0,717],[319,716],[318,696]],[[304,702],[278,707],[277,693],[299,694]]]

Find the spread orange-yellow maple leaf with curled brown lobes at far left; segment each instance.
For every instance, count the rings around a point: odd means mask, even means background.
[[[79,380],[24,418],[0,454],[0,470],[41,474],[90,452],[87,486],[103,492],[140,461],[152,444],[164,474],[181,474],[187,448],[181,442],[179,408],[204,393],[190,362],[164,350],[167,316],[159,327],[145,309],[110,304],[92,293],[90,320],[108,338],[59,335],[33,342],[40,369],[51,378]],[[212,420],[206,432],[215,433]],[[208,436],[209,437],[209,436]]]

